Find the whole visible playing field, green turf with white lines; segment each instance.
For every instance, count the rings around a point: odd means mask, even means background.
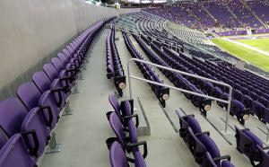
[[[216,38],[213,42],[235,57],[269,71],[269,36]]]

